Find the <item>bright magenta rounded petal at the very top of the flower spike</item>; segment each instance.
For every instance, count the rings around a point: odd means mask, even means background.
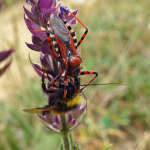
[[[37,7],[40,11],[51,9],[53,0],[39,0]]]

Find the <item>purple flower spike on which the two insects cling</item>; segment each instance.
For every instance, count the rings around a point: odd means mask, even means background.
[[[72,15],[70,15],[69,13],[70,10],[67,7],[62,6],[60,4],[57,5],[56,0],[27,0],[26,2],[31,5],[31,11],[23,7],[25,12],[24,20],[28,29],[32,33],[32,44],[26,43],[26,45],[31,50],[41,52],[40,55],[41,65],[33,63],[31,59],[30,62],[34,70],[40,77],[44,76],[44,79],[53,80],[56,76],[60,74],[61,71],[60,64],[51,56],[46,33],[34,32],[34,31],[41,30],[42,28],[46,30],[47,22],[49,21],[50,16],[52,14],[55,14],[56,16],[60,17],[63,21],[67,21],[70,24],[70,26],[76,23],[76,19]],[[76,9],[72,13],[76,16],[77,12],[78,9]],[[78,55],[80,55],[79,50],[77,50],[77,53]],[[48,74],[43,73],[43,70],[47,70]],[[65,72],[61,75],[59,79],[63,79],[64,74]],[[59,104],[61,103],[61,100],[59,100],[58,102],[57,99],[62,99],[62,101],[66,100],[63,99],[62,96],[59,97],[59,92],[55,92],[52,94],[51,93],[50,94],[45,93],[45,94],[48,97],[48,103],[49,103],[48,106],[53,107],[53,105],[51,105],[49,102],[49,99],[52,97],[52,95],[54,97],[55,106],[58,105],[57,103]],[[44,107],[42,107],[41,110],[43,108]],[[65,116],[68,132],[69,132],[80,123],[79,117],[83,114],[85,108],[86,105],[84,107],[81,107],[81,105],[79,104],[76,107],[74,107],[74,109],[69,113],[68,111],[62,111],[61,113],[58,113],[60,115],[55,115],[53,111],[43,111],[42,115],[38,113],[38,116],[44,122],[46,122],[45,123],[46,127],[48,127],[54,132],[59,133],[61,132],[62,129],[63,123],[61,120],[61,115],[63,114]],[[31,109],[31,111],[32,110],[36,110],[36,109]]]

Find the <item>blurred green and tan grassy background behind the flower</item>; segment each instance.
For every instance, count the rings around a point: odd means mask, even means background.
[[[150,150],[150,1],[63,0],[89,33],[81,45],[83,70],[98,71],[94,83],[127,83],[87,87],[87,113],[73,131],[80,150]],[[14,47],[13,63],[0,78],[0,150],[57,150],[60,137],[36,115],[22,109],[44,106],[41,79],[29,60],[39,53],[27,48],[31,34],[23,20],[23,0],[6,0],[0,12],[0,49]],[[78,39],[84,28],[74,29]],[[91,76],[81,77],[87,83]],[[84,100],[82,100],[85,103]]]

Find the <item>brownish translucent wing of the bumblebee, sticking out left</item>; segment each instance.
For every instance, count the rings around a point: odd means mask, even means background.
[[[33,108],[33,109],[23,109],[23,111],[27,112],[27,113],[38,113],[38,112],[43,112],[43,111],[49,111],[52,110],[54,108],[56,108],[57,106],[45,106],[45,107],[41,107],[41,108]]]

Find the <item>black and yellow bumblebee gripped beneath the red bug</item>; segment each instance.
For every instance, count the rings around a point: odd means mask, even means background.
[[[59,86],[53,85],[55,88],[53,87],[52,89],[49,83],[50,82],[48,82],[48,85],[46,86],[44,75],[42,75],[42,89],[43,92],[48,95],[48,105],[40,108],[24,109],[23,111],[28,113],[44,113],[50,111],[54,115],[61,115],[73,110],[79,105],[82,94],[79,89],[80,78],[78,76],[74,77],[74,80],[70,79],[68,82],[66,98],[63,98],[65,90],[63,80],[59,81]]]

